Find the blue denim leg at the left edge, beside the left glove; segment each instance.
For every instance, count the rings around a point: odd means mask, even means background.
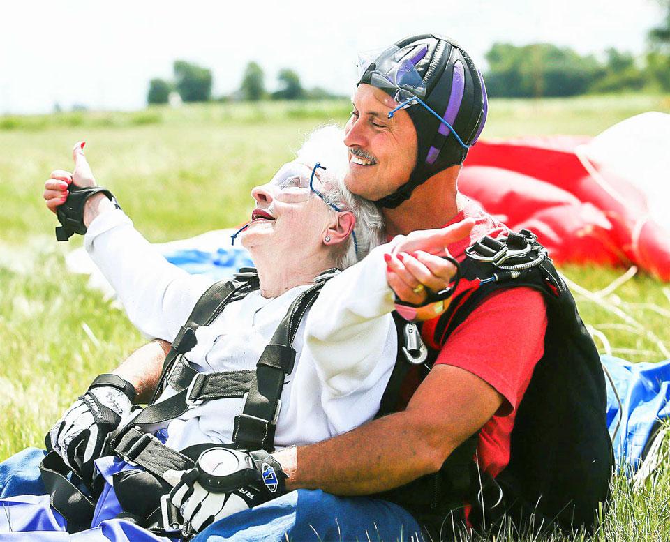
[[[40,478],[45,451],[27,448],[0,463],[0,498],[46,493]]]

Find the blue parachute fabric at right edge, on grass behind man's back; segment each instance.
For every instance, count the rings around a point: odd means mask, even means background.
[[[607,382],[607,426],[616,466],[631,475],[639,469],[659,421],[670,418],[670,360],[631,363],[613,356],[601,358],[621,401],[620,408]]]

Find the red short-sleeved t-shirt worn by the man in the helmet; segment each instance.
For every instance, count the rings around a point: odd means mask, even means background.
[[[496,238],[509,232],[474,202],[446,225],[468,217],[475,219],[469,238],[447,247],[458,261],[465,257],[465,249],[484,235]],[[424,324],[424,340],[429,345],[432,329],[431,322]],[[491,294],[472,311],[449,336],[435,361],[471,372],[503,398],[498,412],[479,432],[479,465],[491,476],[497,476],[509,462],[516,408],[528,388],[535,363],[544,354],[545,331],[542,294],[529,287],[505,289]]]

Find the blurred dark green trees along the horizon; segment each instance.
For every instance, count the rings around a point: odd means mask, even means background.
[[[670,91],[670,0],[658,0],[664,19],[648,33],[648,48],[641,57],[616,48],[604,59],[581,55],[569,47],[551,43],[512,45],[494,43],[486,53],[489,70],[484,73],[491,97],[539,98],[576,96],[584,93],[620,91]],[[237,91],[219,99],[258,101],[334,98],[320,88],[304,89],[299,75],[290,68],[280,70],[279,88],[268,92],[265,73],[257,62],[249,62]],[[167,103],[177,92],[184,102],[211,100],[211,70],[186,61],[174,62],[174,80],[152,79],[147,101]]]

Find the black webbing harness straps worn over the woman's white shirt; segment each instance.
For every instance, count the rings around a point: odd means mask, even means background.
[[[209,287],[195,303],[188,321],[172,343],[151,404],[126,426],[110,435],[107,448],[131,464],[139,465],[163,479],[166,472],[184,471],[195,463],[184,453],[165,446],[148,431],[158,423],[181,416],[196,403],[246,396],[242,413],[235,419],[232,446],[271,451],[274,448],[274,432],[285,376],[290,375],[295,362],[292,343],[301,319],[314,303],[326,280],[333,276],[329,271],[317,277],[315,285],[293,301],[260,356],[255,370],[201,373],[184,358],[184,354],[190,352],[197,342],[195,330],[214,322],[228,303],[242,299],[251,292],[258,285],[258,279],[255,270],[242,268],[236,277],[243,278],[244,282],[228,281]],[[170,384],[178,393],[156,402],[166,384]],[[68,476],[76,474],[70,471],[57,453],[48,454],[40,470],[52,506],[68,520],[68,532],[87,528],[95,509],[94,498],[70,482]],[[73,480],[77,481],[78,478]],[[93,494],[96,495],[96,492]]]

